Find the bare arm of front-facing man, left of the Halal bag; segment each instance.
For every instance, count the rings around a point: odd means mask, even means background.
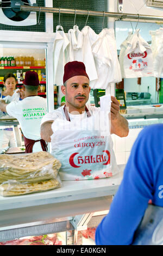
[[[51,136],[53,134],[52,124],[53,124],[53,121],[51,120],[41,125],[41,129],[40,129],[41,138],[47,142],[51,142]]]

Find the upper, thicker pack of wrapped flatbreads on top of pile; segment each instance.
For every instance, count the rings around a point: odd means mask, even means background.
[[[46,151],[0,155],[0,184],[8,180],[36,182],[55,179],[60,167],[60,161]]]

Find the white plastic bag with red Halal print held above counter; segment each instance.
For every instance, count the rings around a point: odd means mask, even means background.
[[[61,180],[108,178],[118,172],[108,111],[52,124],[52,155],[61,162]]]

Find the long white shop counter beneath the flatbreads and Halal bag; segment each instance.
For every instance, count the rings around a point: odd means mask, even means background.
[[[108,211],[123,176],[124,164],[118,167],[120,172],[111,178],[62,181],[61,188],[47,192],[0,196],[0,241],[73,230],[83,215],[87,219]]]

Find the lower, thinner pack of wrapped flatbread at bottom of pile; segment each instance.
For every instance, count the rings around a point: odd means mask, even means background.
[[[3,183],[0,185],[0,195],[7,196],[19,196],[21,194],[29,194],[34,192],[43,192],[53,190],[54,188],[61,187],[58,179],[43,180],[40,182],[32,183]]]

